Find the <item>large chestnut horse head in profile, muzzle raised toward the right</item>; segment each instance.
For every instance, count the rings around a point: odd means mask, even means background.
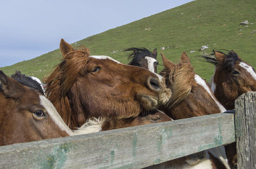
[[[45,80],[45,92],[72,129],[91,117],[137,117],[170,98],[170,89],[156,73],[108,56],[89,56],[88,48],[74,50],[64,40],[60,50],[63,60]]]

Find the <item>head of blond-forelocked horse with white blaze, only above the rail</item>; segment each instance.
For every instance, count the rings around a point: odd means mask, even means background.
[[[172,119],[186,119],[226,111],[212,94],[209,84],[195,73],[185,52],[179,64],[173,64],[161,55],[164,70],[160,75],[173,92],[168,103],[160,108],[163,112]]]

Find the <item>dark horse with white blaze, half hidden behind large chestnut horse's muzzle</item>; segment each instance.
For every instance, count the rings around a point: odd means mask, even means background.
[[[139,66],[157,73],[157,65],[159,63],[156,60],[156,48],[153,52],[150,52],[147,48],[127,48],[125,51],[132,51],[132,54],[129,55],[129,59],[132,59],[129,65]]]

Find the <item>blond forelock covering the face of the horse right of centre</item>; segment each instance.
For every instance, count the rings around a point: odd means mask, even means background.
[[[175,64],[172,70],[164,68],[160,74],[166,81],[170,81],[172,97],[168,104],[171,105],[171,107],[174,107],[191,92],[195,71],[191,64],[180,62],[179,64]]]

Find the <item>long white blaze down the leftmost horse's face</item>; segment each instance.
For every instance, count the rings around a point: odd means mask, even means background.
[[[39,98],[40,98],[41,105],[48,112],[52,121],[54,121],[56,125],[60,127],[60,129],[62,129],[63,131],[66,131],[68,135],[70,136],[74,135],[73,131],[70,128],[68,128],[67,124],[65,124],[63,119],[60,117],[60,114],[58,114],[56,108],[52,105],[51,101],[49,101],[49,99],[45,98],[45,96],[42,96],[42,95],[40,95]]]

